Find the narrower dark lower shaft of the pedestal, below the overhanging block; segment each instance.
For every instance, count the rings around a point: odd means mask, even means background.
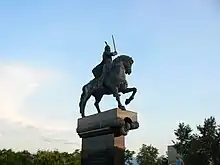
[[[81,165],[124,165],[124,136],[83,138]]]

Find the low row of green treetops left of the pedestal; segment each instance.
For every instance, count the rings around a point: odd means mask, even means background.
[[[38,151],[31,154],[28,151],[0,151],[1,165],[80,165],[80,151],[73,153],[58,151]]]

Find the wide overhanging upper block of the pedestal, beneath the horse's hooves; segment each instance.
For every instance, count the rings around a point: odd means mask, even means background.
[[[77,133],[81,138],[114,133],[125,136],[129,130],[137,129],[137,113],[118,108],[78,119]]]

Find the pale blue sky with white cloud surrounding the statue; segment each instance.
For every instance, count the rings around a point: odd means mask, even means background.
[[[220,6],[215,0],[8,0],[0,2],[1,146],[72,151],[81,87],[101,61],[104,41],[135,60],[127,107],[140,129],[127,147],[161,153],[184,121],[220,122]],[[127,96],[128,97],[128,96]],[[122,97],[125,99],[126,97]],[[93,99],[87,114],[96,113]],[[113,97],[103,110],[116,106]]]

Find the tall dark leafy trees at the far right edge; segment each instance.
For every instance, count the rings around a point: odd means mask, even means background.
[[[186,164],[219,165],[220,164],[220,127],[215,118],[205,119],[204,124],[197,126],[199,134],[192,133],[189,125],[180,123],[174,131],[177,152],[183,156]]]

